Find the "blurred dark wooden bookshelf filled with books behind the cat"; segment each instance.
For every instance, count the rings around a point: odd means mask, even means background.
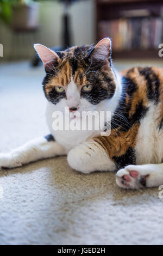
[[[96,0],[96,39],[109,36],[113,58],[160,58],[162,0]]]

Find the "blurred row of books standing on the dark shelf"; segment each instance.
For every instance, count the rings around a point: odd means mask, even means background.
[[[163,42],[162,17],[132,17],[100,21],[98,39],[109,37],[115,51],[155,49]]]

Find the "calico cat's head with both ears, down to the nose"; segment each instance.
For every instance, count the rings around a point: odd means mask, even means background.
[[[61,52],[39,44],[35,49],[45,65],[45,95],[58,109],[67,106],[71,112],[92,111],[114,95],[108,38],[96,46],[76,46]]]

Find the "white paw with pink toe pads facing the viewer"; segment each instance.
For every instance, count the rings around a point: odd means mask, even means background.
[[[146,187],[146,180],[149,177],[149,170],[144,166],[130,165],[118,170],[116,174],[116,184],[122,188],[133,190]]]

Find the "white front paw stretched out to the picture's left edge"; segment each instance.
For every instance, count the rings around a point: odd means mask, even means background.
[[[0,153],[0,170],[21,166],[20,162],[16,162],[10,154]]]

